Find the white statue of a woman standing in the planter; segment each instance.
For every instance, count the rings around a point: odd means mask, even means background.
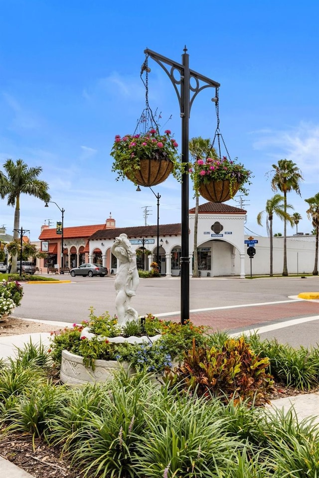
[[[136,265],[136,253],[126,234],[120,234],[112,245],[112,253],[120,261],[119,270],[115,278],[116,315],[119,325],[124,325],[130,320],[138,320],[139,315],[130,306],[131,297],[136,293],[140,278]]]

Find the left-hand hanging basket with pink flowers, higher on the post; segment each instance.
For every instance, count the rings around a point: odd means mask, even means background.
[[[111,151],[112,171],[118,174],[117,180],[128,178],[147,187],[162,183],[170,173],[180,180],[177,146],[169,129],[164,134],[154,128],[145,134],[117,134]]]

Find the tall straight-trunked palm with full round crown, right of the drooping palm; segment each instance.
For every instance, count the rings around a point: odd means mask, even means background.
[[[284,211],[287,213],[287,193],[292,189],[300,194],[300,181],[304,178],[296,163],[290,159],[280,159],[278,164],[273,164],[274,176],[271,181],[273,191],[281,191],[284,194]],[[283,275],[288,275],[287,269],[287,220],[284,219],[284,267]]]

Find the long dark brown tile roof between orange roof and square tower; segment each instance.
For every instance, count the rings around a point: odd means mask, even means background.
[[[89,238],[92,239],[115,239],[120,234],[126,234],[128,238],[148,238],[157,236],[157,226],[136,226],[129,228],[115,228],[97,231]],[[160,224],[160,236],[180,236],[181,225],[177,224]]]

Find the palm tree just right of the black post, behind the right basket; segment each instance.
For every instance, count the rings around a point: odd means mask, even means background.
[[[198,159],[206,159],[210,155],[217,157],[215,148],[211,147],[211,140],[209,138],[203,139],[201,136],[191,138],[188,144],[190,155],[193,161]],[[194,218],[194,263],[193,263],[193,277],[198,277],[198,255],[197,255],[197,230],[198,230],[198,206],[199,206],[199,194],[195,191],[195,218]]]

